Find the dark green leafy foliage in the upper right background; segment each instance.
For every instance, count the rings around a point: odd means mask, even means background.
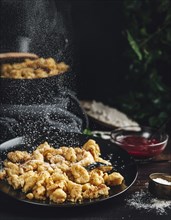
[[[123,3],[129,92],[119,97],[119,107],[137,121],[157,126],[171,115],[171,2]]]

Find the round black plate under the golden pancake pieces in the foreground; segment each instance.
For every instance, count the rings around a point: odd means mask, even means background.
[[[110,194],[108,197],[100,197],[93,200],[85,200],[81,203],[71,203],[65,202],[62,204],[56,204],[53,202],[39,201],[39,200],[28,200],[25,194],[20,190],[14,190],[6,181],[0,181],[0,191],[17,199],[22,202],[32,203],[35,205],[43,206],[55,206],[55,207],[74,207],[82,205],[90,205],[92,203],[102,202],[119,196],[124,193],[131,185],[135,182],[137,178],[137,166],[134,159],[123,149],[119,148],[114,143],[109,140],[103,140],[101,138],[90,137],[82,134],[49,134],[46,137],[39,137],[37,140],[31,140],[28,137],[17,137],[4,142],[0,145],[0,167],[2,167],[2,161],[6,158],[8,151],[14,151],[16,149],[22,149],[27,151],[32,151],[36,146],[45,140],[49,142],[53,147],[59,147],[61,145],[66,146],[82,146],[88,139],[94,139],[99,144],[101,149],[101,156],[104,159],[110,159],[114,166],[114,169],[120,172],[125,179],[125,182],[121,186],[111,187]]]

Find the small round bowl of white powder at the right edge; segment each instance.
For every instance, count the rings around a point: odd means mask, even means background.
[[[158,198],[171,199],[171,175],[167,173],[150,174],[148,189]]]

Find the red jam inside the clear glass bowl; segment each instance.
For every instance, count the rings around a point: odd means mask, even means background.
[[[120,146],[128,151],[129,154],[133,155],[136,158],[150,158],[160,154],[164,147],[165,143],[161,143],[153,138],[147,139],[140,136],[119,136],[117,141]],[[151,145],[151,146],[150,146]]]

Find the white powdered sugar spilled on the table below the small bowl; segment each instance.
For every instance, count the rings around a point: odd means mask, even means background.
[[[137,191],[132,197],[126,199],[127,206],[135,208],[137,210],[145,209],[147,212],[155,211],[156,214],[167,214],[167,210],[171,209],[170,200],[161,200],[152,195],[148,191]]]

